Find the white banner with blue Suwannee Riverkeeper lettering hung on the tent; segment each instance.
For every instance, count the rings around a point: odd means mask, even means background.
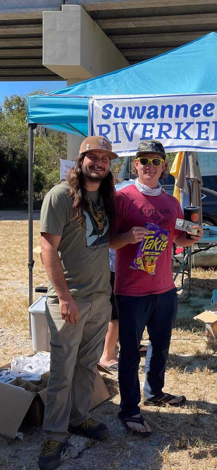
[[[147,139],[161,141],[166,152],[217,151],[217,94],[93,96],[88,128],[119,156],[134,155]]]

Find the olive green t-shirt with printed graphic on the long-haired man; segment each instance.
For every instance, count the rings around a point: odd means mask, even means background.
[[[84,211],[83,226],[72,220],[75,211],[67,181],[54,186],[44,198],[40,232],[61,236],[58,254],[69,290],[73,297],[94,300],[111,293],[109,269],[109,221],[99,231],[90,212]],[[98,191],[88,191],[94,203]],[[48,297],[56,293],[48,283]]]

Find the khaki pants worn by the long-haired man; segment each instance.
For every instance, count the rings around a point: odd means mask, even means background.
[[[48,298],[47,321],[51,332],[50,377],[43,429],[46,439],[67,437],[69,423],[78,426],[89,418],[95,368],[111,318],[109,296],[92,302],[76,298],[77,325],[61,319],[58,298]]]

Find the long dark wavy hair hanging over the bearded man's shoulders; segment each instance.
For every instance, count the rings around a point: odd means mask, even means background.
[[[70,197],[73,201],[73,209],[76,212],[73,220],[77,220],[80,226],[82,225],[83,211],[88,210],[88,203],[85,198],[85,179],[81,168],[84,157],[84,155],[79,155],[74,168],[69,170],[66,177],[70,185]],[[112,172],[109,171],[108,175],[101,181],[99,194],[102,196],[104,209],[109,219],[110,233],[112,233],[116,217],[116,191]]]

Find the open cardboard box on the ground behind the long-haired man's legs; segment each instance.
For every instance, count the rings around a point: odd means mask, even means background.
[[[34,354],[31,354],[33,356]],[[30,356],[30,357],[31,357]],[[0,369],[9,368],[10,363]],[[105,371],[107,372],[107,371]],[[16,378],[10,383],[0,383],[0,433],[15,438],[20,425],[25,423],[40,426],[44,419],[47,382],[49,372],[41,376],[40,381],[28,381]],[[107,387],[98,370],[91,399],[91,408],[110,398]]]

